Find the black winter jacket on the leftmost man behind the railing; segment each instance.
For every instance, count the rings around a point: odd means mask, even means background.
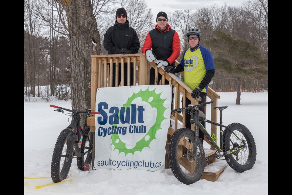
[[[103,47],[108,54],[119,54],[121,48],[127,48],[131,54],[136,54],[140,48],[140,41],[134,28],[126,23],[118,23],[109,27],[104,34]]]

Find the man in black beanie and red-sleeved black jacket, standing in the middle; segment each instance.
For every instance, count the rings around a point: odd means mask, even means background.
[[[175,67],[175,61],[180,54],[179,34],[171,29],[167,23],[167,14],[165,12],[159,12],[157,14],[156,22],[155,29],[151,30],[146,36],[142,53],[146,54],[149,62],[154,61],[156,58],[158,68],[161,66]],[[161,77],[162,75],[158,74],[157,82],[161,80]],[[155,69],[151,67],[151,85],[154,85],[154,80]]]

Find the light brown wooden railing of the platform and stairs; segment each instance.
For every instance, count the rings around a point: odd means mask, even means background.
[[[174,100],[173,109],[180,107],[181,94],[182,94],[182,107],[186,107],[186,97],[191,100],[192,105],[198,103],[197,99],[191,97],[192,90],[181,81],[176,75],[171,73],[166,73],[162,68],[157,68],[154,62],[148,62],[144,54],[127,54],[127,55],[92,55],[92,72],[91,72],[91,85],[96,87],[112,87],[113,83],[113,66],[116,66],[116,79],[115,86],[118,86],[118,69],[121,68],[121,83],[120,86],[130,85],[130,66],[127,68],[127,83],[124,83],[124,66],[118,66],[118,63],[125,63],[129,65],[131,62],[134,64],[134,85],[148,85],[149,84],[149,69],[152,66],[155,68],[155,84],[157,83],[158,73],[162,75],[161,84],[173,84],[174,86]],[[176,61],[176,65],[178,62]],[[169,83],[165,83],[165,79]],[[96,108],[96,88],[91,88],[91,110],[95,111]],[[217,110],[213,109],[218,104],[218,99],[220,95],[214,90],[208,87],[207,97],[214,101],[211,104],[211,120],[217,122]],[[207,112],[207,111],[206,111]],[[172,136],[174,131],[178,128],[178,122],[182,123],[182,127],[185,127],[185,113],[182,115],[174,113],[171,117],[174,119],[174,128],[169,128],[169,138]],[[93,132],[95,132],[95,117],[89,117],[88,125],[91,126]],[[192,124],[192,129],[193,129]],[[211,125],[211,135],[214,133],[217,137],[217,126]],[[208,140],[205,139],[207,142]],[[211,147],[211,149],[213,149]]]

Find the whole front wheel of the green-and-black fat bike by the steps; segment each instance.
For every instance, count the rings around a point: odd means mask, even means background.
[[[176,179],[187,185],[195,183],[202,177],[205,166],[205,153],[201,140],[197,141],[196,160],[191,156],[193,143],[194,132],[188,128],[181,128],[172,135],[168,147],[172,173]]]

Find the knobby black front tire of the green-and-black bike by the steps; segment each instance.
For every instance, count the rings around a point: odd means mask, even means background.
[[[182,168],[182,165],[179,164],[178,158],[182,158],[182,154],[178,153],[178,146],[181,145],[179,140],[182,137],[187,137],[190,141],[189,143],[194,142],[194,132],[189,128],[181,128],[176,130],[176,132],[172,135],[169,147],[168,147],[168,158],[169,165],[172,170],[173,175],[178,179],[181,183],[184,184],[192,184],[196,181],[200,180],[203,175],[204,167],[205,167],[205,153],[203,149],[203,144],[200,139],[197,141],[197,160],[193,161],[193,165],[196,166],[193,173],[188,173],[186,169]],[[186,147],[182,147],[184,152],[187,151]],[[188,158],[185,158],[188,161]]]

